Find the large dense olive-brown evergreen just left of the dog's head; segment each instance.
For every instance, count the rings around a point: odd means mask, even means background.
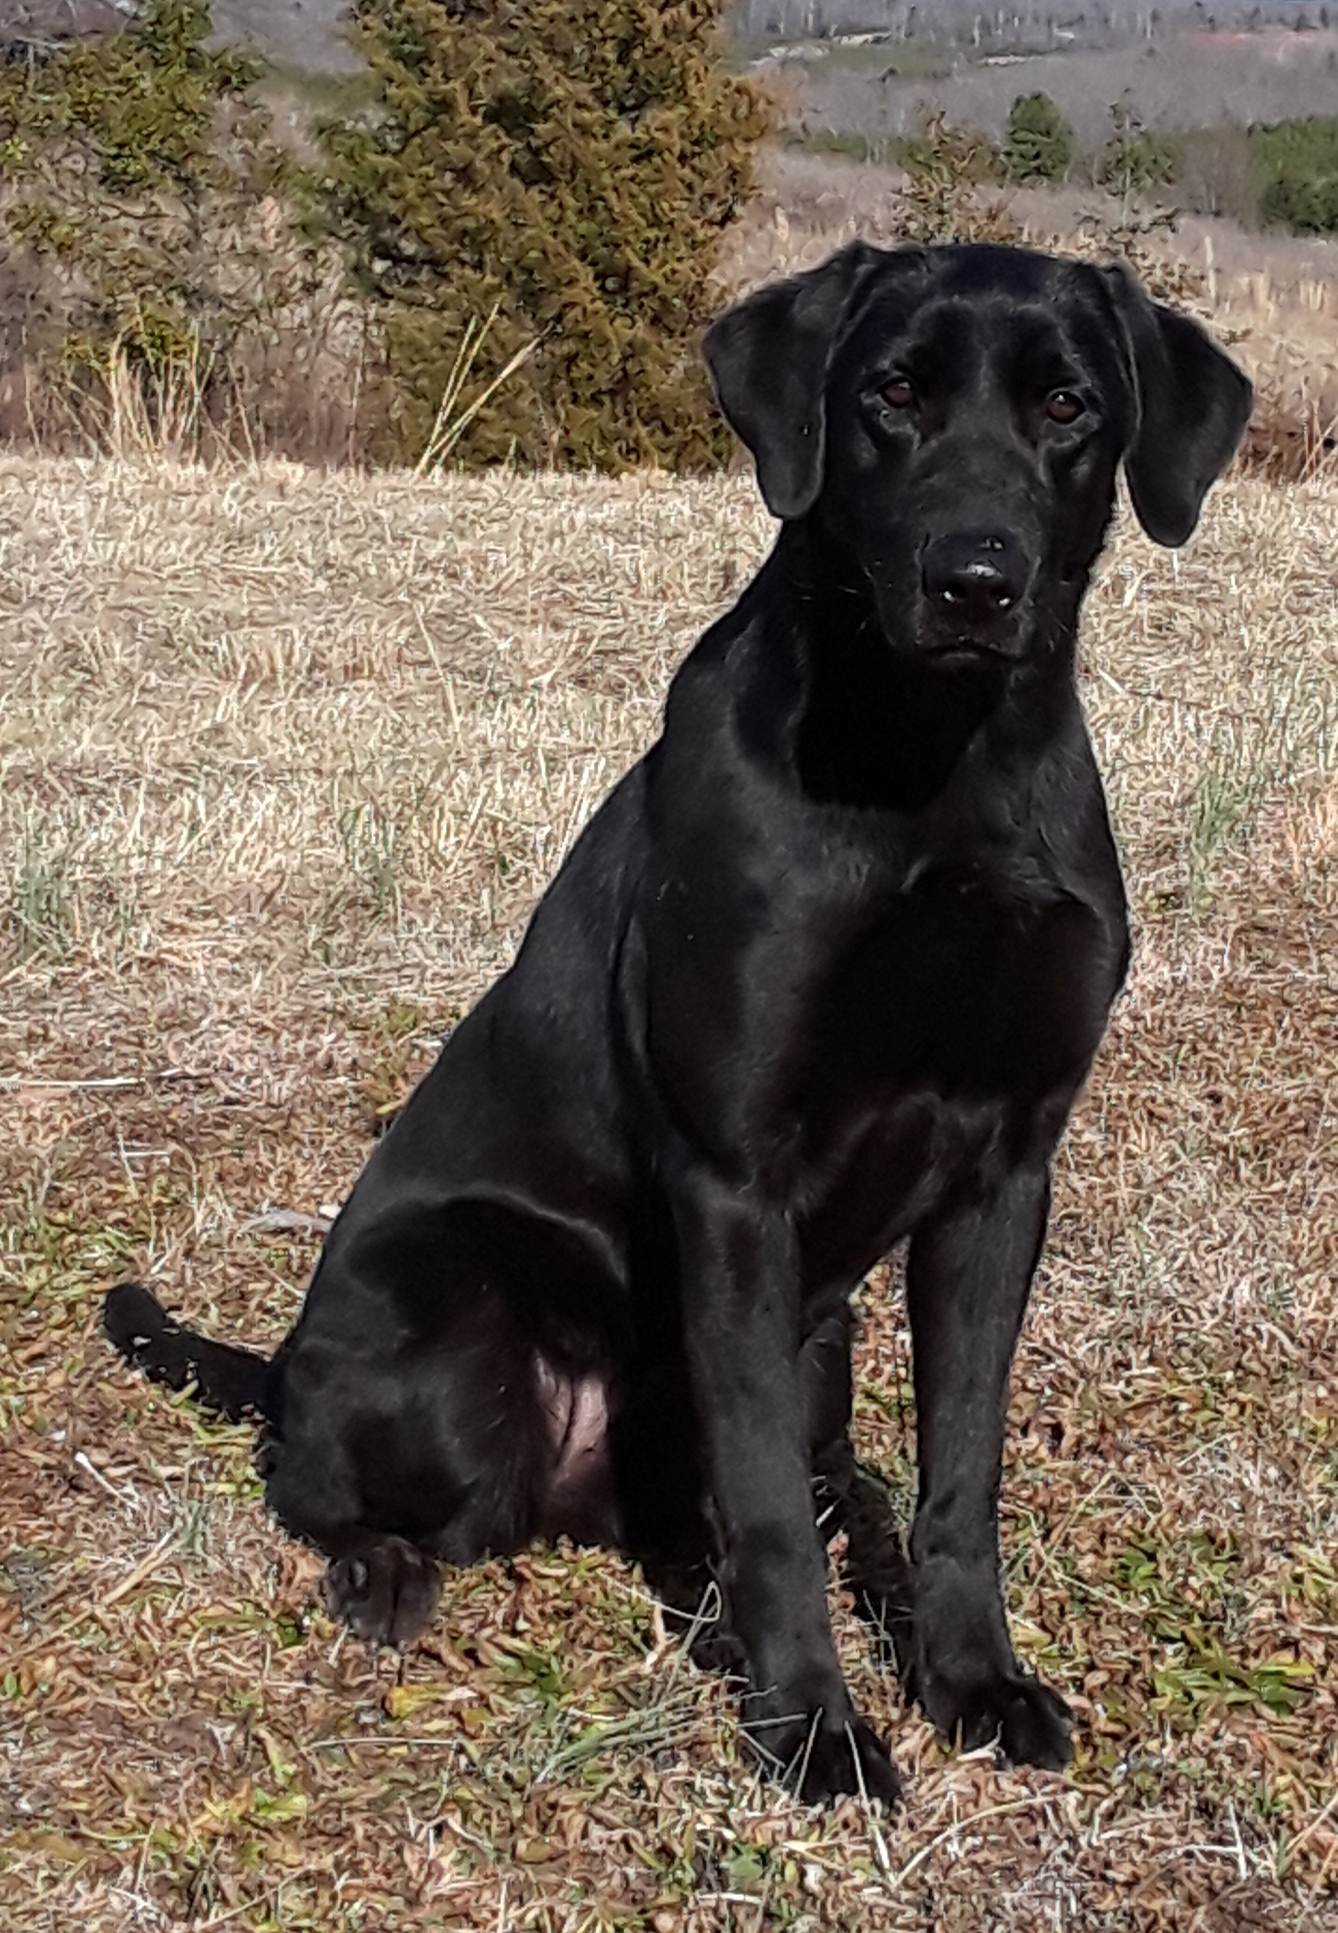
[[[723,458],[696,342],[770,108],[721,66],[717,12],[354,0],[375,102],[323,141],[385,344],[385,454]]]

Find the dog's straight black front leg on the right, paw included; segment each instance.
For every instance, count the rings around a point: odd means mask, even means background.
[[[907,1689],[965,1749],[1000,1738],[1023,1765],[1067,1765],[1067,1707],[1009,1643],[998,1504],[1007,1374],[1050,1202],[1044,1164],[980,1185],[911,1241],[920,1496],[911,1531]]]

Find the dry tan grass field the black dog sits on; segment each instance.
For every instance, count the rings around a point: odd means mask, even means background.
[[[102,1343],[273,1342],[770,541],[750,479],[0,458],[0,1923],[1338,1929],[1338,487],[1125,520],[1083,678],[1137,961],[1013,1384],[1007,1597],[1069,1776],[957,1757],[833,1575],[893,1817],[758,1782],[638,1575],[534,1550],[371,1655],[251,1434]],[[907,1336],[857,1434],[913,1492]]]

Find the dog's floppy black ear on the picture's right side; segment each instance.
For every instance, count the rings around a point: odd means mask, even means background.
[[[1255,390],[1199,323],[1152,302],[1123,263],[1104,273],[1139,389],[1139,427],[1123,458],[1129,495],[1149,537],[1174,549],[1236,454]]]

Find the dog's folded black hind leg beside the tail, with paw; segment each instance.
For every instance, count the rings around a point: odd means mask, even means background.
[[[613,1529],[605,1384],[545,1328],[561,1266],[541,1226],[478,1204],[331,1245],[282,1351],[267,1494],[331,1558],[327,1601],[362,1637],[418,1635],[441,1562]]]

